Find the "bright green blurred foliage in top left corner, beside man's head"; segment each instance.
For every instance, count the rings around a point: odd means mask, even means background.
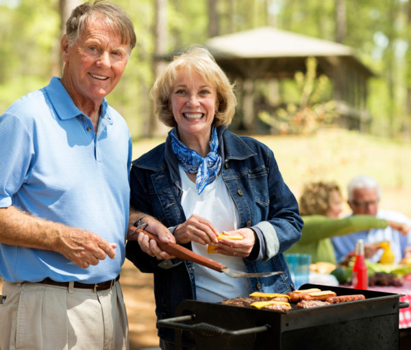
[[[60,18],[50,1],[0,6],[0,110],[45,86],[51,75]],[[45,21],[47,18],[47,21]]]

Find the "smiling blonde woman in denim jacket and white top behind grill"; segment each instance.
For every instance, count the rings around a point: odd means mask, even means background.
[[[273,152],[227,130],[236,98],[225,73],[206,49],[195,47],[166,67],[151,97],[172,129],[165,143],[132,163],[132,206],[169,227],[177,243],[229,268],[284,271],[242,279],[187,261],[159,264],[149,257],[158,252],[155,241],[140,234],[138,242],[127,243],[127,258],[154,273],[158,318],[174,316],[184,299],[219,302],[257,290],[290,292],[282,252],[301,236],[297,201]],[[240,239],[219,240],[221,233]],[[214,253],[208,245],[216,246]],[[159,329],[162,349],[173,349],[173,335],[173,329]]]

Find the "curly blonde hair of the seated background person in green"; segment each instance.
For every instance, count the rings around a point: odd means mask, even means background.
[[[301,215],[325,215],[330,207],[331,192],[336,190],[341,195],[341,190],[336,182],[311,182],[303,188],[299,200]]]

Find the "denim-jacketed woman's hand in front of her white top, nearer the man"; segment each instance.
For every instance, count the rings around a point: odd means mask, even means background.
[[[219,231],[206,218],[192,214],[184,223],[174,229],[173,234],[176,242],[181,245],[188,242],[209,245],[218,242]]]

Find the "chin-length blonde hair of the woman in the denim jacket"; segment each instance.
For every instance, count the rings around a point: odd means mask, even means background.
[[[236,109],[236,96],[234,95],[234,85],[229,82],[227,75],[216,64],[211,53],[204,47],[189,47],[181,55],[175,56],[168,66],[155,80],[150,91],[153,99],[155,115],[160,121],[169,127],[175,126],[175,119],[171,111],[171,92],[179,73],[184,68],[184,72],[190,77],[200,75],[206,82],[212,84],[216,89],[217,108],[214,115],[214,125],[229,125],[232,122]]]

